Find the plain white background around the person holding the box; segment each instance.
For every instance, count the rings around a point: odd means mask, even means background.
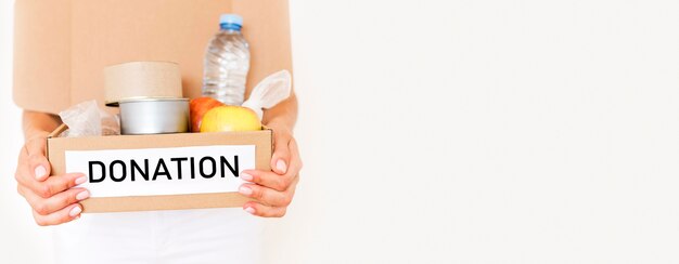
[[[12,177],[10,6],[0,262],[38,263],[49,232]],[[267,221],[268,262],[679,263],[677,14],[669,0],[292,0],[306,167],[289,215]]]

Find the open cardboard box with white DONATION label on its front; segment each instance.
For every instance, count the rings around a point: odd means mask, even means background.
[[[249,199],[238,193],[240,172],[270,170],[268,129],[57,137],[64,130],[48,137],[48,159],[53,175],[88,176],[86,213],[241,207]]]

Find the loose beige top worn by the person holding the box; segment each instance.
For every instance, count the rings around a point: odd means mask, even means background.
[[[14,102],[52,114],[88,100],[103,106],[104,67],[133,61],[178,63],[183,95],[198,97],[221,13],[243,16],[248,92],[292,70],[287,0],[16,0]]]

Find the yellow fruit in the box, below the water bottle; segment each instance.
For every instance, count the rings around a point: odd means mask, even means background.
[[[217,106],[203,116],[201,132],[261,130],[257,114],[247,107]]]

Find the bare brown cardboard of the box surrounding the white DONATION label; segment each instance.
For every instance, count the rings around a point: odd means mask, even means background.
[[[266,127],[261,131],[220,133],[179,133],[155,135],[117,135],[92,137],[57,137],[67,127],[60,126],[48,136],[48,160],[52,174],[65,173],[65,150],[136,149],[182,146],[209,146],[218,144],[256,145],[256,169],[271,170],[273,132]],[[167,196],[131,196],[89,198],[81,201],[84,213],[130,212],[155,210],[182,210],[201,208],[241,207],[252,200],[239,193],[188,194]]]

